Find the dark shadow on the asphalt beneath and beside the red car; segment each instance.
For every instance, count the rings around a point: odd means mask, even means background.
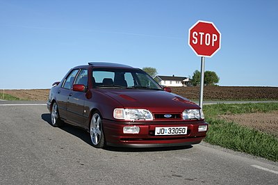
[[[50,113],[43,113],[41,115],[42,120],[47,122],[51,127],[51,114]],[[69,134],[72,134],[73,136],[76,136],[83,140],[88,145],[91,145],[90,140],[90,134],[88,134],[87,131],[84,129],[81,129],[79,127],[74,127],[71,124],[64,124],[63,127],[58,127],[58,129],[61,129],[63,131],[66,131]],[[162,152],[162,151],[172,151],[172,150],[186,150],[192,148],[193,145],[187,145],[187,146],[180,146],[180,147],[111,147],[107,146],[104,148],[104,150],[110,151],[110,152]]]

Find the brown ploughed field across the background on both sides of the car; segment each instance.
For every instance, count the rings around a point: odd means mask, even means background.
[[[2,93],[3,90],[0,90]],[[5,90],[5,93],[19,97],[20,99],[46,101],[49,89],[31,90]],[[188,99],[199,99],[199,87],[172,88],[172,93],[187,97]],[[0,97],[1,98],[1,97]],[[205,100],[278,100],[278,87],[204,87]]]

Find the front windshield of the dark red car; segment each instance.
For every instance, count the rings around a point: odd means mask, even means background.
[[[95,69],[92,71],[92,80],[94,88],[162,90],[152,77],[137,69]]]

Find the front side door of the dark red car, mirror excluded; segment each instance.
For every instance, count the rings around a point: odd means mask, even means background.
[[[81,84],[85,87],[88,86],[88,70],[80,70],[79,74],[74,81],[74,84]],[[86,89],[86,88],[85,88]],[[83,126],[84,122],[84,102],[85,91],[78,92],[73,91],[70,93],[67,99],[67,120],[72,124]]]

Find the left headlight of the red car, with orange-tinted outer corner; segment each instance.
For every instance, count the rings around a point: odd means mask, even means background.
[[[119,120],[153,120],[152,113],[146,109],[115,108],[113,116]]]

